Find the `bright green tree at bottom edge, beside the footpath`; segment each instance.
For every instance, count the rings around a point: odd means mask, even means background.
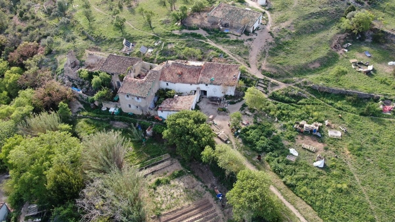
[[[251,221],[263,218],[273,222],[281,219],[280,205],[270,191],[270,179],[263,171],[242,170],[237,174],[237,182],[226,197],[233,206],[236,221]]]

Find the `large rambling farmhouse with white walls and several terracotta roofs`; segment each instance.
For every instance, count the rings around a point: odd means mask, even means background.
[[[155,94],[159,88],[192,96],[163,102],[160,111],[167,114],[158,114],[167,117],[176,111],[194,109],[200,93],[207,97],[234,95],[240,77],[239,65],[236,64],[176,60],[155,65],[139,58],[111,57],[103,62],[99,70],[113,74],[114,88],[119,88],[120,108],[135,114],[156,114],[155,102],[158,98]],[[119,79],[119,74],[125,75],[123,81]]]

